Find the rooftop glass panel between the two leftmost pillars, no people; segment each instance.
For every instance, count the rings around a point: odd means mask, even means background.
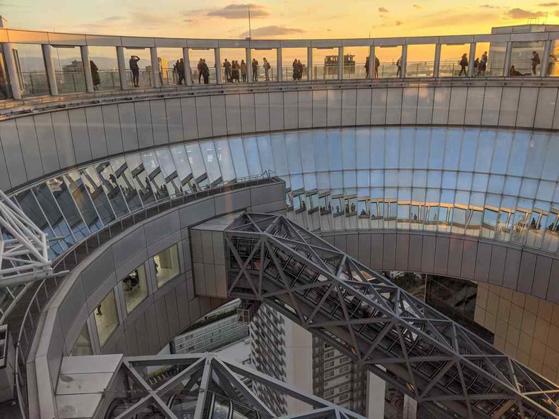
[[[22,96],[49,95],[49,79],[38,44],[12,44]]]

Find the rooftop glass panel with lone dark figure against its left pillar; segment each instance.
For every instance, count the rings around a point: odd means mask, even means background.
[[[88,47],[95,90],[120,89],[119,63],[115,47]]]

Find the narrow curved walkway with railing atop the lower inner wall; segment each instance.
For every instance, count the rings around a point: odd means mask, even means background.
[[[53,271],[56,276],[36,281],[23,291],[18,304],[10,312],[6,319],[8,330],[13,334],[16,344],[16,366],[15,381],[16,392],[20,413],[23,418],[29,418],[28,405],[28,380],[26,373],[26,360],[29,356],[33,338],[37,331],[40,316],[44,308],[47,307],[50,298],[64,282],[69,272],[83,262],[91,253],[100,248],[115,236],[119,235],[126,229],[145,221],[150,217],[161,214],[174,207],[185,205],[212,195],[217,195],[231,190],[246,188],[248,186],[257,186],[265,183],[277,182],[279,179],[274,177],[272,171],[264,171],[260,175],[248,176],[246,178],[238,178],[234,181],[216,183],[207,189],[194,193],[184,193],[180,196],[174,196],[162,202],[146,207],[133,214],[114,221],[99,231],[85,238],[77,245],[66,251],[63,255],[56,258],[53,262]]]

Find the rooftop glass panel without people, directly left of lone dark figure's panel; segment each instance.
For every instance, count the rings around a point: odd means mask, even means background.
[[[59,93],[85,92],[80,47],[52,47],[52,61]]]

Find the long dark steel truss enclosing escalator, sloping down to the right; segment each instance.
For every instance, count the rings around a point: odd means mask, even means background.
[[[245,213],[224,240],[230,296],[271,305],[439,417],[559,418],[557,384],[284,216]]]

